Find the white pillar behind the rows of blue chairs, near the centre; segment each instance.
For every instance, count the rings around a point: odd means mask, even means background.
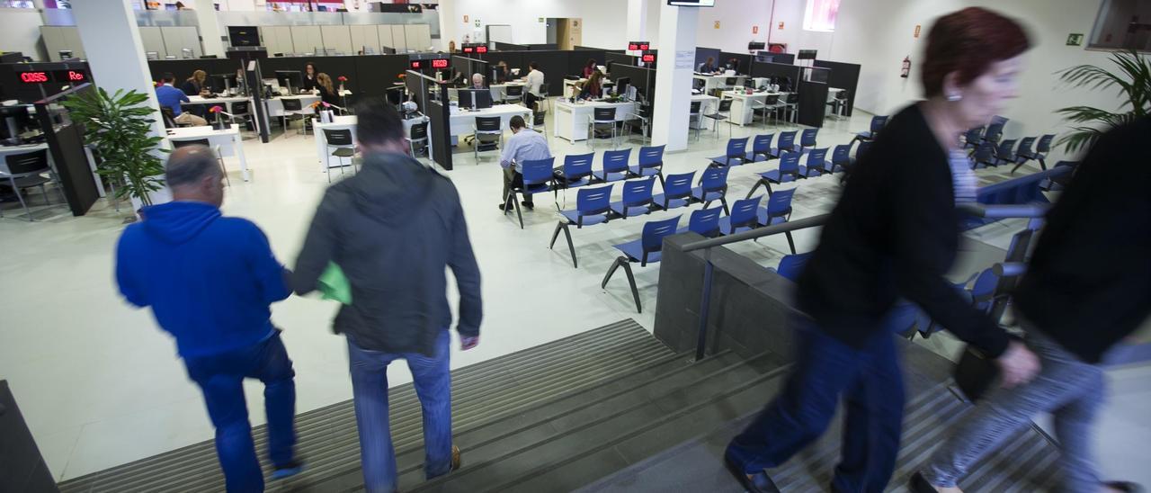
[[[692,104],[692,65],[699,8],[660,7],[660,58],[655,70],[654,145],[666,151],[687,149],[687,120]]]

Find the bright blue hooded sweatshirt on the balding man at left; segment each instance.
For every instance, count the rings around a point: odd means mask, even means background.
[[[116,282],[129,303],[152,308],[180,356],[245,348],[274,333],[268,305],[291,291],[259,227],[200,202],[142,212],[120,236]]]

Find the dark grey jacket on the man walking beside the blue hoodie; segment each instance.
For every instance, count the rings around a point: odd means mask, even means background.
[[[334,329],[363,349],[433,356],[436,336],[451,324],[449,266],[459,287],[456,328],[480,333],[480,270],[459,195],[407,156],[366,156],[359,174],[328,188],[296,260],[296,294],[317,289],[328,261],[352,289]]]

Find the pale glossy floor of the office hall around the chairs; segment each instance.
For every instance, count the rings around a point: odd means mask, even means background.
[[[829,120],[820,131],[820,146],[848,143],[853,131],[867,128],[869,119],[857,112],[852,119]],[[557,165],[564,154],[595,150],[599,168],[600,154],[612,146],[609,142],[569,143],[555,137],[550,131],[554,126],[548,123]],[[715,134],[703,130],[699,138],[689,137],[687,151],[668,153],[665,173],[704,169],[706,158],[723,154],[726,127],[722,124]],[[733,126],[731,132],[740,137],[786,129]],[[276,256],[290,267],[328,184],[318,164],[314,137],[288,131],[276,134],[269,144],[247,137],[244,146],[252,181],[243,182],[238,162],[227,159],[231,187],[223,211],[256,221]],[[620,143],[640,145],[638,136]],[[632,162],[635,159],[633,156]],[[493,207],[500,202],[502,187],[497,156],[481,154],[477,161],[471,147],[462,145],[453,160],[455,169],[447,175],[459,189],[483,274],[485,319],[480,346],[466,352],[453,348],[452,367],[624,318],[653,328],[658,264],[634,267],[645,306],[643,313],[637,313],[622,272],[607,289],[600,288],[604,272],[618,256],[611,245],[639,237],[648,220],[683,214],[681,225],[686,225],[691,211],[701,205],[573,228],[580,259],[579,268],[573,268],[563,238],[555,250],[548,249],[558,218],[550,195],[535,198],[536,208],[525,212],[521,230],[513,214],[504,217]],[[742,198],[756,182],[755,173],[775,167],[776,161],[733,168],[729,197]],[[333,173],[338,177],[338,169]],[[1009,177],[1004,168],[977,174],[983,183]],[[793,219],[798,219],[830,211],[839,180],[824,176],[785,188],[791,187],[799,188],[793,203]],[[619,190],[617,185],[617,196]],[[59,200],[59,195],[49,194],[48,198]],[[73,218],[67,207],[44,205],[39,194],[33,192],[31,200],[36,222],[24,220],[18,204],[2,204],[6,219],[0,220],[0,251],[6,255],[0,258],[5,280],[0,288],[0,378],[9,380],[53,475],[74,478],[211,439],[203,400],[176,358],[171,340],[147,311],[134,310],[116,293],[113,250],[128,213],[101,200],[90,214]],[[565,208],[574,207],[576,194],[561,194],[557,200]],[[1021,227],[1019,222],[996,223],[970,235],[1006,248]],[[799,251],[808,251],[817,242],[817,230],[800,232],[795,240]],[[783,237],[770,237],[732,249],[775,266],[787,252],[787,244]],[[456,295],[450,296],[455,305]],[[335,310],[334,302],[317,298],[291,297],[274,305],[273,320],[284,329],[295,362],[298,412],[351,399],[346,347],[330,331]],[[959,347],[946,335],[923,343],[948,356]],[[1146,378],[1151,370],[1142,366],[1114,373],[1121,385],[1102,419],[1103,467],[1108,475],[1151,484],[1151,472],[1141,468],[1146,454],[1108,452],[1144,450],[1143,443],[1151,440],[1151,424],[1136,412],[1151,402],[1151,379]],[[399,385],[411,377],[404,365],[395,365],[389,378],[391,385]],[[261,387],[249,382],[245,390],[251,420],[260,424],[265,419]]]

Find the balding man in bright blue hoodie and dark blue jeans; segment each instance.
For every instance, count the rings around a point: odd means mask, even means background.
[[[124,229],[116,282],[176,337],[188,376],[204,390],[228,491],[260,492],[245,378],[265,386],[273,478],[302,469],[294,453],[295,373],[268,308],[291,294],[289,272],[259,227],[220,213],[223,174],[209,149],[175,150],[165,180],[173,202],[144,208],[144,221]]]

